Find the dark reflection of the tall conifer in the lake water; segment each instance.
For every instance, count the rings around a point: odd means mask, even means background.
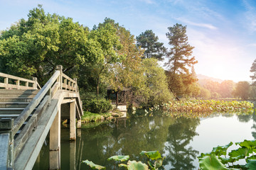
[[[168,169],[195,169],[193,160],[196,159],[198,151],[188,147],[195,135],[196,127],[199,125],[198,118],[178,118],[176,123],[169,126],[165,155],[165,164]]]

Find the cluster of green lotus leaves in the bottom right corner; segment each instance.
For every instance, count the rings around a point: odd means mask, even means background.
[[[203,169],[255,169],[256,168],[256,140],[244,140],[236,142],[238,149],[227,152],[230,142],[225,146],[213,147],[212,152],[201,154],[199,159],[200,168]],[[236,164],[240,159],[245,160],[245,164]]]

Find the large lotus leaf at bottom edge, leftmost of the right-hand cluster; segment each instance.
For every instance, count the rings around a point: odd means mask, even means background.
[[[218,169],[225,170],[227,169],[214,153],[207,155],[203,158],[199,158],[199,166],[201,169]]]

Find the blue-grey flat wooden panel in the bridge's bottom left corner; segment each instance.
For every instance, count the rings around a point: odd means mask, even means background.
[[[8,169],[9,137],[9,133],[0,134],[0,169]]]

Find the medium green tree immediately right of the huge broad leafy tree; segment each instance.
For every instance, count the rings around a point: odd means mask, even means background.
[[[95,81],[97,94],[100,92],[100,84],[108,82],[110,74],[114,72],[113,64],[120,63],[125,59],[125,54],[121,55],[117,51],[122,45],[117,36],[117,30],[110,23],[99,26],[90,31],[88,36],[87,56],[95,60],[90,61],[90,77]]]

